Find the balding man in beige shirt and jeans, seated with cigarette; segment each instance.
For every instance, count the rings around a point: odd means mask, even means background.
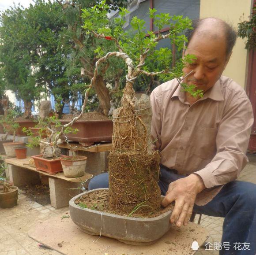
[[[248,162],[252,106],[240,85],[221,76],[236,33],[216,18],[192,26],[183,54],[196,59],[184,67],[189,75],[183,82],[201,89],[203,97],[184,92],[177,79],[151,93],[162,205],[175,202],[170,221],[178,227],[187,225],[192,211],[225,217],[220,254],[255,255],[256,185],[234,181]],[[89,189],[100,187],[108,187],[108,174],[90,181]]]

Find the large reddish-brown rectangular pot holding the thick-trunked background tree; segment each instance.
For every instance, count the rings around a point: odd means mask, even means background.
[[[62,125],[68,124],[68,120],[60,120]],[[72,126],[79,131],[76,134],[68,133],[68,140],[93,144],[94,142],[112,141],[113,121],[109,120],[78,120]]]

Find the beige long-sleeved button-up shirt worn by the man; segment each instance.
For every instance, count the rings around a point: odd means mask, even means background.
[[[205,205],[224,184],[237,179],[253,124],[252,105],[236,82],[221,76],[195,103],[185,101],[177,79],[151,93],[152,139],[161,163],[185,174],[198,174],[206,189],[196,197]]]

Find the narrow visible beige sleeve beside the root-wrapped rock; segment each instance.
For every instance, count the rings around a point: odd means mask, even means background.
[[[152,122],[151,122],[151,139],[153,151],[160,149],[161,144],[161,101],[159,100],[159,93],[154,89],[150,95],[152,108]]]

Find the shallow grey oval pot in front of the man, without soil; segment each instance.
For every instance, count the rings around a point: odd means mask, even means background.
[[[97,188],[88,192],[106,189],[108,188]],[[156,242],[171,226],[169,218],[172,210],[154,218],[133,218],[81,208],[75,204],[75,200],[86,193],[83,192],[69,201],[72,221],[85,233],[101,234],[126,244],[142,246]]]

